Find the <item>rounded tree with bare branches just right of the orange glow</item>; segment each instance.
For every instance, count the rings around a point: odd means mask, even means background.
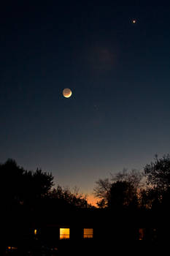
[[[111,175],[112,178],[99,179],[96,182],[94,195],[100,200],[98,207],[127,208],[137,207],[143,174],[136,170],[123,170],[122,173]]]

